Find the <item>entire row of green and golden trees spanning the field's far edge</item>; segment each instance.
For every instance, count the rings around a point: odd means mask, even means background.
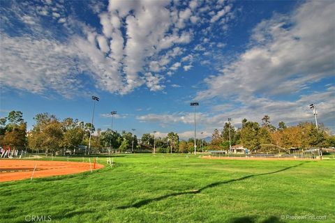
[[[45,153],[66,153],[75,151],[78,146],[88,146],[91,134],[93,153],[106,150],[154,151],[156,153],[191,153],[194,151],[194,139],[181,140],[176,132],[169,132],[166,137],[154,137],[154,134],[142,134],[140,139],[132,132],[117,132],[111,129],[101,131],[91,123],[84,123],[74,118],[59,120],[53,114],[42,113],[34,117],[33,128],[27,132],[27,123],[22,112],[12,111],[5,118],[0,118],[0,145],[13,148],[29,148],[31,151]],[[197,139],[197,151],[222,150],[241,144],[253,149],[262,144],[274,144],[281,148],[311,148],[335,146],[335,136],[323,124],[317,129],[313,123],[299,123],[286,126],[278,123],[278,128],[271,125],[270,117],[264,116],[262,124],[241,121],[241,128],[235,129],[231,123],[225,123],[220,132],[215,129],[211,142]],[[93,134],[93,132],[96,132]]]

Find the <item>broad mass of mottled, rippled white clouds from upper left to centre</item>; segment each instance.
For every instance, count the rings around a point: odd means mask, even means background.
[[[56,1],[43,1],[39,6],[28,1],[14,2],[10,10],[1,15],[1,20],[6,27],[14,27],[15,19],[28,26],[18,30],[20,35],[17,36],[1,30],[1,36],[4,36],[1,38],[1,56],[8,55],[12,59],[1,59],[5,64],[1,72],[15,72],[2,83],[35,93],[45,93],[48,89],[63,93],[63,88],[67,88],[66,95],[73,95],[85,87],[75,81],[82,79],[85,73],[94,80],[91,83],[95,87],[111,93],[130,93],[142,85],[151,91],[161,91],[164,89],[161,82],[165,82],[162,75],[171,76],[172,71],[181,67],[180,62],[176,63],[177,57],[186,52],[184,45],[196,35],[192,22],[196,25],[201,22],[200,13],[206,13],[210,8],[208,3],[195,0],[188,6],[184,4],[186,7],[176,7],[171,1],[116,0],[110,1],[107,11],[98,1],[90,1],[88,5],[89,10],[97,14],[101,29],[92,28],[86,21],[77,21],[77,15],[72,14],[75,13],[73,8],[65,8]],[[61,28],[45,26],[47,20],[62,24]],[[57,40],[60,33],[61,38]],[[13,44],[13,49],[17,50],[10,49],[5,42]],[[25,52],[20,50],[22,43],[30,46],[23,47]],[[56,46],[57,53],[52,47],[47,50],[43,44]],[[36,58],[39,61],[35,61]],[[54,63],[47,58],[53,58]],[[193,56],[183,59],[192,63]],[[14,61],[34,63],[16,66]],[[34,73],[36,64],[39,69]],[[58,69],[57,64],[62,64],[63,69]],[[190,66],[184,66],[184,69]],[[31,75],[22,75],[25,70]],[[158,74],[149,77],[146,75],[149,72]],[[14,77],[20,77],[22,82],[15,83]],[[59,79],[66,84],[59,84],[62,82]],[[23,86],[24,82],[28,84]]]

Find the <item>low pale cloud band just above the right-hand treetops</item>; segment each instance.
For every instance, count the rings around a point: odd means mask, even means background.
[[[318,108],[320,123],[327,123],[328,127],[335,130],[335,107],[333,106],[335,105],[335,87],[333,86],[323,93],[301,95],[296,102],[255,98],[253,96],[237,99],[235,102],[239,102],[241,105],[236,107],[233,103],[218,104],[212,107],[207,114],[197,112],[199,131],[213,132],[215,128],[222,130],[228,118],[232,118],[232,125],[235,128],[241,127],[241,121],[244,118],[261,123],[262,117],[265,115],[270,116],[270,121],[275,126],[280,121],[284,121],[288,125],[296,125],[301,121],[314,121],[313,112],[308,107],[312,102]],[[169,125],[192,125],[194,123],[193,112],[146,114],[136,118],[141,122],[158,123],[163,128]]]

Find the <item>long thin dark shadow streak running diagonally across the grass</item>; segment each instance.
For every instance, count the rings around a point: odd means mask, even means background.
[[[156,198],[152,198],[152,199],[145,199],[145,200],[138,201],[138,202],[133,203],[133,204],[128,205],[128,206],[119,206],[119,207],[117,207],[117,209],[140,208],[141,206],[147,205],[148,203],[151,203],[151,202],[154,202],[154,201],[161,201],[161,200],[166,199],[168,197],[175,197],[175,196],[179,196],[179,195],[183,195],[183,194],[198,194],[198,193],[202,192],[202,190],[206,190],[206,189],[211,188],[211,187],[217,187],[219,185],[223,185],[223,184],[227,184],[227,183],[246,180],[246,179],[252,178],[254,176],[264,176],[264,175],[269,175],[269,174],[276,174],[276,173],[286,171],[286,170],[291,169],[291,168],[299,167],[302,164],[304,164],[304,163],[301,162],[300,164],[297,164],[295,166],[285,167],[284,169],[279,169],[277,171],[272,171],[272,172],[269,172],[269,173],[252,174],[252,175],[244,176],[244,177],[237,178],[237,179],[225,180],[225,181],[220,181],[220,182],[216,182],[216,183],[211,183],[209,185],[206,185],[206,186],[200,188],[199,190],[191,190],[191,191],[186,191],[186,192],[175,192],[175,193],[172,193],[172,194],[163,195],[161,197],[156,197]]]

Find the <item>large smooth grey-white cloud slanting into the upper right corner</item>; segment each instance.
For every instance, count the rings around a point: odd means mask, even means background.
[[[332,1],[304,3],[288,16],[276,15],[255,27],[253,43],[221,74],[204,80],[198,99],[254,93],[299,92],[334,75]],[[313,31],[311,31],[313,30]]]

